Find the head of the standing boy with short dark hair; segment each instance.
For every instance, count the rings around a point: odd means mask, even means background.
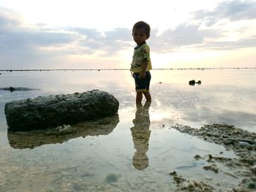
[[[141,44],[150,37],[150,26],[144,21],[135,23],[132,28],[132,37],[137,44]]]

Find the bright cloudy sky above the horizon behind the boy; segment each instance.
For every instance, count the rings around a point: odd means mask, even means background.
[[[151,26],[154,69],[256,67],[256,1],[0,0],[0,69],[129,69]]]

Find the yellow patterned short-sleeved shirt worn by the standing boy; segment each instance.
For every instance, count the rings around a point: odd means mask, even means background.
[[[151,60],[150,60],[150,48],[148,45],[143,43],[143,45],[139,45],[135,47],[133,56],[132,56],[132,64],[131,64],[131,72],[141,72],[142,61],[146,59],[148,61],[148,66],[146,71],[151,70]]]

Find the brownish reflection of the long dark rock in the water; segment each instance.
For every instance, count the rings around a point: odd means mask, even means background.
[[[8,131],[10,146],[15,149],[34,148],[41,145],[67,142],[77,137],[108,135],[119,122],[118,115],[85,121],[63,128],[48,128],[34,131]]]

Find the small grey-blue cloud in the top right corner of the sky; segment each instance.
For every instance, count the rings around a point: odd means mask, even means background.
[[[224,1],[212,11],[198,10],[192,12],[192,15],[193,19],[202,20],[206,23],[206,26],[212,26],[223,19],[229,21],[255,19],[255,9],[255,1]]]

